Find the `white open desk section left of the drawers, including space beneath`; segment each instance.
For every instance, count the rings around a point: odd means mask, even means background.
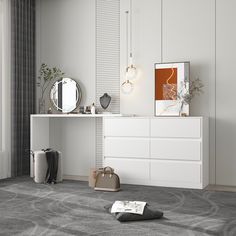
[[[121,114],[36,114],[31,115],[30,148],[53,148],[62,152],[63,173],[68,179],[87,179],[96,166],[101,149],[104,117]],[[101,140],[100,140],[101,139]]]

